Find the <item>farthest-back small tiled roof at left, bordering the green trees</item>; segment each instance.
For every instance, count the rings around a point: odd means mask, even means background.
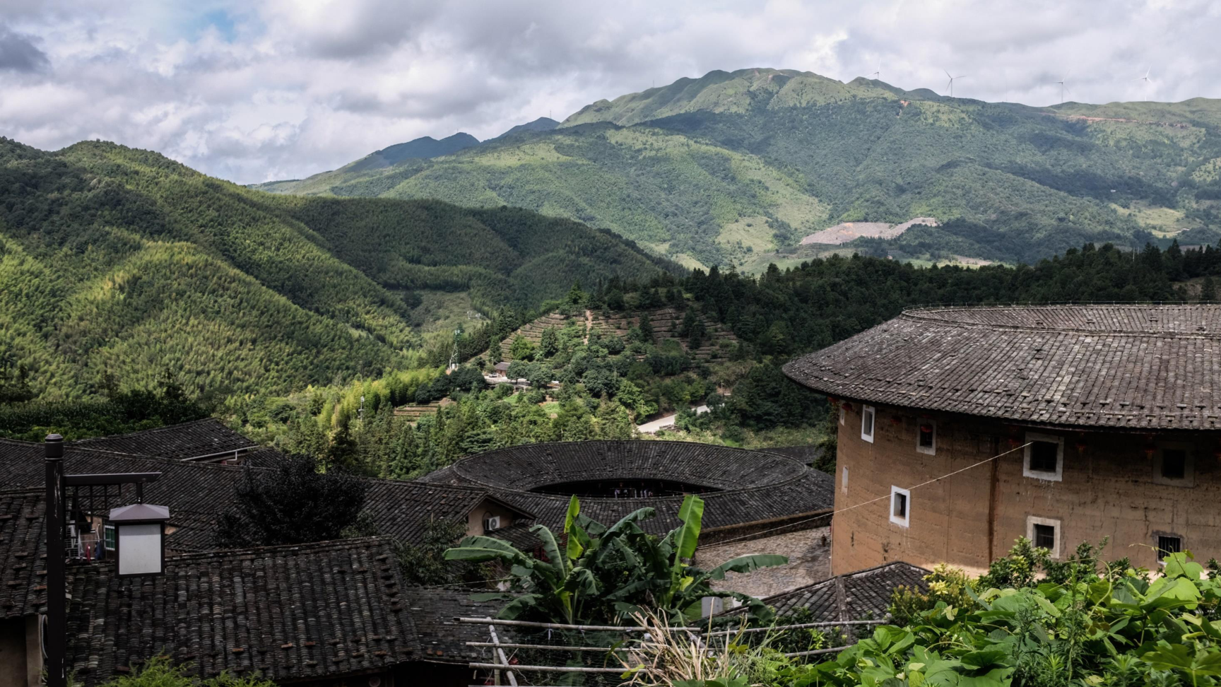
[[[216,418],[204,418],[145,429],[131,434],[95,436],[70,443],[94,451],[151,456],[156,458],[199,458],[225,452],[245,452],[259,447],[255,441],[233,432]]]

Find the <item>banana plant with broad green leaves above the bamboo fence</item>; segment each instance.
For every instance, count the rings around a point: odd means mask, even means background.
[[[536,524],[530,531],[542,544],[541,557],[492,537],[466,537],[446,551],[446,559],[508,566],[513,594],[476,595],[508,600],[502,619],[619,623],[647,606],[681,623],[698,617],[703,597],[737,599],[759,616],[770,612],[753,597],[713,590],[711,583],[729,572],[784,565],[785,556],[739,556],[705,571],[690,562],[700,540],[703,500],[687,495],[679,509],[683,524],[661,538],[640,526],[654,515],[653,509],[640,509],[606,527],[582,515],[580,500],[573,496],[564,517],[563,548],[551,529]]]

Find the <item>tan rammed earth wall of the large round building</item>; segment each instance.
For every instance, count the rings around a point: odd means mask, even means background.
[[[945,561],[979,572],[1032,532],[1032,518],[1056,527],[1060,559],[1082,542],[1110,537],[1104,557],[1129,556],[1133,565],[1158,570],[1159,535],[1181,538],[1197,560],[1221,557],[1221,436],[1215,432],[1051,429],[874,406],[868,443],[861,436],[862,406],[845,400],[839,427],[834,575],[896,560],[928,568]],[[928,423],[937,428],[932,455],[916,445],[918,427]],[[1024,476],[1024,450],[988,460],[1023,445],[1032,433],[1062,441],[1060,480]],[[1175,449],[1188,456],[1179,480],[1162,477],[1164,451]],[[891,487],[911,489],[906,527],[891,521]]]

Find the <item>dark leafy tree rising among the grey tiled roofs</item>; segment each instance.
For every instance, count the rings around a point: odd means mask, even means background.
[[[247,469],[233,505],[217,520],[216,548],[339,539],[357,523],[366,490],[365,482],[341,472],[319,472],[310,456],[288,457],[269,472]]]

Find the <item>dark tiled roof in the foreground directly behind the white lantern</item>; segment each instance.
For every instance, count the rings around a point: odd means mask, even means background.
[[[85,685],[168,655],[200,678],[303,680],[419,660],[411,614],[383,538],[189,554],[165,575],[77,566],[68,670]]]

